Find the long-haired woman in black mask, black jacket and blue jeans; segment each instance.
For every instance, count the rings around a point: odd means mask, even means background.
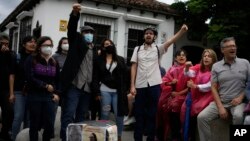
[[[101,54],[94,65],[93,84],[97,98],[101,100],[101,119],[108,120],[111,107],[114,110],[121,141],[123,116],[127,112],[128,72],[125,60],[118,56],[110,39],[102,42]]]

